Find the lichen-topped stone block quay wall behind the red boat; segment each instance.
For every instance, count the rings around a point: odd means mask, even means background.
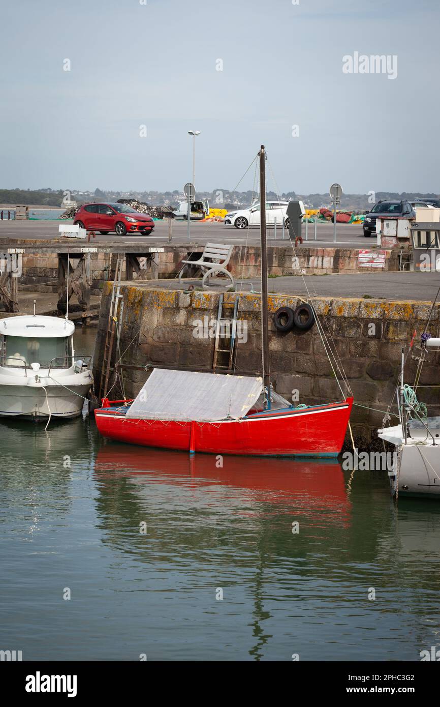
[[[99,382],[108,325],[112,284],[103,289],[100,320],[95,350],[95,381]],[[146,284],[123,283],[123,322],[120,349],[128,350],[123,363],[145,366],[166,364],[188,368],[213,366],[214,339],[195,337],[197,322],[215,320],[219,293],[169,291],[152,289]],[[233,302],[238,293],[225,294]],[[237,345],[237,373],[261,370],[261,298],[258,294],[239,293],[238,318],[246,325],[246,341]],[[269,296],[269,312],[280,306],[293,309],[299,298]],[[409,344],[417,329],[416,344],[429,317],[429,303],[384,302],[355,298],[313,298],[322,329],[335,353],[338,366],[345,375],[355,397],[352,429],[359,448],[377,443],[375,431],[382,426],[383,414],[393,393],[400,370],[402,346]],[[204,320],[204,317],[208,317]],[[275,390],[289,400],[320,404],[341,399],[326,349],[314,325],[308,332],[294,329],[280,334],[270,322],[270,372]],[[432,336],[439,335],[439,305],[429,323]],[[417,349],[414,349],[417,354]],[[427,403],[430,414],[440,414],[436,407],[440,391],[440,358],[429,354],[417,389],[420,400]],[[333,366],[335,364],[333,363]],[[417,360],[408,357],[407,382],[414,382]],[[144,371],[124,370],[127,397],[135,397],[145,382]],[[439,386],[439,387],[432,387]],[[343,385],[345,392],[345,387]],[[396,412],[396,406],[393,407]],[[396,420],[396,418],[392,418]]]

